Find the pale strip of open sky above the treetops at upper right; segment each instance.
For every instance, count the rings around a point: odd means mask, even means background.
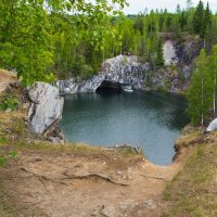
[[[176,10],[177,4],[179,3],[181,8],[186,8],[187,0],[127,0],[129,8],[125,8],[124,12],[126,14],[137,14],[143,12],[145,8],[151,11],[152,9],[167,9],[169,12]],[[204,3],[209,2],[209,7],[213,12],[217,12],[217,0],[203,0]],[[199,0],[192,0],[193,4],[196,5]]]

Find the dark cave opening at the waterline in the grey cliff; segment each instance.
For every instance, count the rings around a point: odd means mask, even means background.
[[[97,93],[120,93],[122,86],[119,82],[112,82],[108,80],[103,80],[100,87],[95,90]]]

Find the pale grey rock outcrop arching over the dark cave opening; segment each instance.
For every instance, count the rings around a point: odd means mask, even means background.
[[[101,66],[101,72],[87,80],[59,80],[56,85],[62,94],[95,92],[104,80],[132,85],[133,89],[143,89],[144,74],[149,69],[149,64],[140,63],[137,56],[118,55],[106,60]]]

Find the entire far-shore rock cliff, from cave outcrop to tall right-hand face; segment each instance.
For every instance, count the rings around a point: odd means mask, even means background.
[[[135,90],[165,89],[178,93],[188,87],[192,61],[199,55],[202,46],[202,40],[195,37],[187,37],[181,41],[166,39],[165,67],[141,63],[135,55],[118,55],[102,63],[101,72],[87,80],[72,78],[59,80],[56,85],[62,94],[95,92],[103,81],[130,85]]]

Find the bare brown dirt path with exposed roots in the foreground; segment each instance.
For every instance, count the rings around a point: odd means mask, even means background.
[[[179,164],[163,167],[137,157],[20,153],[0,174],[10,201],[26,216],[149,216]]]

